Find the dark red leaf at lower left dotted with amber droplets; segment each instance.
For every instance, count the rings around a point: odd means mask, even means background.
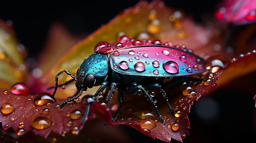
[[[68,103],[65,108],[60,109],[58,108],[60,103],[46,100],[49,98],[41,98],[42,101],[36,103],[41,105],[38,106],[34,103],[34,100],[38,100],[38,96],[14,95],[10,89],[0,89],[0,92],[2,101],[0,121],[4,130],[11,127],[18,136],[31,130],[34,134],[46,138],[50,132],[65,136],[69,130],[72,134],[78,134],[83,128],[81,117],[86,108],[78,103]],[[44,95],[48,96],[46,93]],[[95,118],[93,114],[95,111],[111,125],[112,115],[109,108],[93,103],[90,109],[92,110],[85,121]]]

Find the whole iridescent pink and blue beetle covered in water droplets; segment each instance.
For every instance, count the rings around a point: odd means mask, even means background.
[[[153,98],[147,90],[158,88],[166,104],[173,114],[175,111],[168,103],[164,89],[164,79],[184,78],[205,72],[204,59],[192,54],[185,46],[173,46],[171,42],[162,44],[159,40],[131,40],[127,35],[121,36],[117,43],[99,42],[94,47],[94,54],[83,61],[78,68],[76,77],[69,71],[62,70],[56,75],[54,93],[58,87],[76,81],[77,94],[64,101],[59,108],[81,96],[83,91],[93,86],[100,86],[92,98],[96,98],[105,88],[110,90],[107,106],[113,90],[118,90],[119,108],[112,117],[115,121],[123,105],[123,92],[127,94],[144,94],[152,103],[155,113],[165,124],[157,110]],[[58,76],[62,73],[70,75],[72,79],[58,85]],[[169,81],[171,84],[173,81]],[[165,83],[166,84],[166,83]],[[93,100],[88,101],[88,104]],[[82,122],[88,115],[86,112]]]

